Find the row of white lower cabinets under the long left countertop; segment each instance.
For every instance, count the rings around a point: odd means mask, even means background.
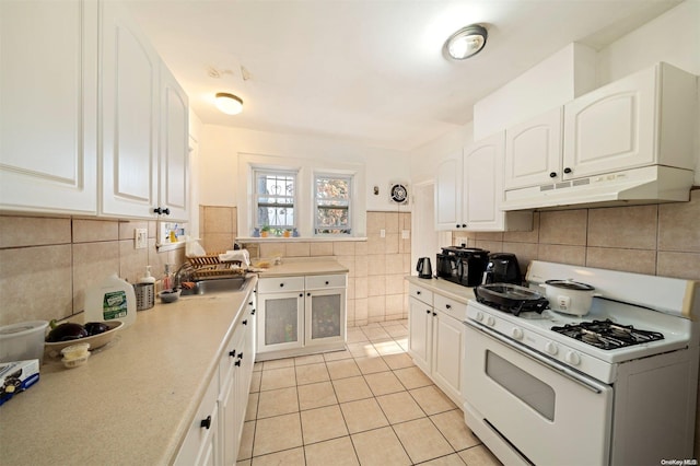
[[[175,465],[235,465],[255,361],[255,308],[252,292],[219,357]]]

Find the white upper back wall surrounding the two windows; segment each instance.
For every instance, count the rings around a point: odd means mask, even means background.
[[[237,207],[238,153],[364,164],[368,210],[397,210],[388,201],[388,184],[410,179],[407,153],[330,138],[205,125],[199,152],[199,201],[206,206]],[[380,187],[380,196],[372,194],[373,186]],[[401,207],[401,211],[406,210],[409,209]]]

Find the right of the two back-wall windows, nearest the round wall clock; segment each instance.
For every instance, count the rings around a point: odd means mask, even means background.
[[[314,177],[314,233],[352,233],[352,176],[322,175]]]

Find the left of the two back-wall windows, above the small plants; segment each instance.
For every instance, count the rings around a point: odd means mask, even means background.
[[[255,226],[273,233],[294,229],[296,172],[255,171]]]

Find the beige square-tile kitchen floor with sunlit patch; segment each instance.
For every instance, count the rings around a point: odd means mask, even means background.
[[[500,465],[409,356],[407,321],[255,364],[238,465]]]

